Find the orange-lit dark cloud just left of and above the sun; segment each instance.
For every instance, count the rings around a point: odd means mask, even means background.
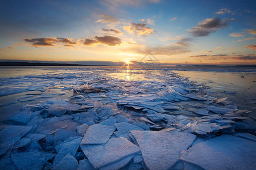
[[[119,46],[122,44],[121,39],[114,36],[95,36],[94,39],[86,38],[83,42],[84,45],[103,44],[108,46]]]

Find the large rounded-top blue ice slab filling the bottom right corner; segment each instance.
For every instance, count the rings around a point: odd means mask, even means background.
[[[221,135],[183,152],[181,159],[204,169],[255,169],[256,142]]]

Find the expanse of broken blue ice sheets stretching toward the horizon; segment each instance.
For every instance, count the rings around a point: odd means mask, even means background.
[[[170,70],[141,71],[144,80],[105,68],[2,79],[0,168],[255,167],[250,111]]]

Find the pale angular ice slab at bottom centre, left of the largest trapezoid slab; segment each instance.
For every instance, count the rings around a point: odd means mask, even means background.
[[[105,145],[81,145],[81,149],[94,168],[105,167],[140,151],[125,138],[109,139]]]

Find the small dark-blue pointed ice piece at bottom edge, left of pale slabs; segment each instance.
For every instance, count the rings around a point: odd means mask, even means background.
[[[52,170],[60,170],[60,169],[67,169],[67,170],[76,170],[77,169],[77,160],[74,156],[67,154],[59,163],[57,163]]]

